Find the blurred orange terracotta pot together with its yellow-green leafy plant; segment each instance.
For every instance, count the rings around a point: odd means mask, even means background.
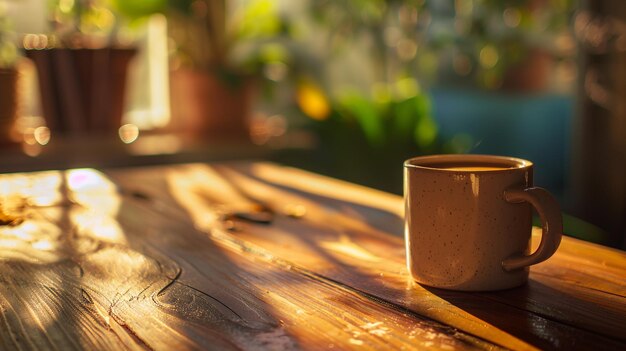
[[[265,0],[113,3],[129,18],[157,12],[167,17],[171,39],[169,128],[210,140],[248,140],[263,65],[259,51],[280,36],[277,5]],[[242,46],[249,49],[245,58],[234,58]]]

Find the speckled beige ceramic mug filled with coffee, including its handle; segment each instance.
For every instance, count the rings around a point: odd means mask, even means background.
[[[433,155],[404,163],[407,266],[420,284],[453,290],[512,288],[561,242],[557,201],[533,187],[529,161]],[[530,254],[532,207],[543,226]]]

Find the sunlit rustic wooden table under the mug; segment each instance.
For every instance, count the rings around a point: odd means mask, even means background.
[[[626,349],[626,253],[564,238],[526,286],[422,287],[401,198],[296,169],[6,174],[0,198],[0,349]]]

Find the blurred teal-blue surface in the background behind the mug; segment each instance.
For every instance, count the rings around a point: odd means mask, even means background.
[[[535,185],[561,201],[568,184],[574,98],[506,95],[437,88],[430,91],[444,140],[467,134],[469,153],[524,158],[535,164]]]

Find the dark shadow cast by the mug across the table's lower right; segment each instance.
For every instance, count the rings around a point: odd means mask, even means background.
[[[540,349],[593,349],[598,341],[605,347],[621,348],[626,341],[615,337],[623,335],[620,330],[626,323],[626,317],[619,312],[532,278],[523,286],[496,292],[423,288]]]

